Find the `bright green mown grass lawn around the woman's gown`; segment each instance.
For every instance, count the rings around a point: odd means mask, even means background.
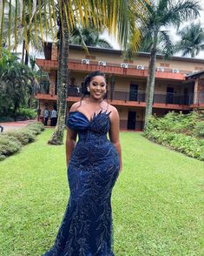
[[[64,146],[50,129],[0,162],[0,255],[40,256],[69,199]],[[112,196],[115,256],[204,255],[204,163],[122,132],[123,172]]]

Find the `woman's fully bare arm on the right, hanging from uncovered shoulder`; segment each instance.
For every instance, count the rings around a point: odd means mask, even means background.
[[[112,106],[110,113],[109,139],[115,145],[120,158],[120,172],[122,172],[122,148],[120,143],[120,118],[118,111]]]

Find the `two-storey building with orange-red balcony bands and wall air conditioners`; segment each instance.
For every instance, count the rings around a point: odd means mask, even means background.
[[[44,47],[45,59],[36,64],[49,72],[49,84],[42,81],[36,93],[40,108],[56,105],[57,48]],[[148,78],[149,53],[139,52],[134,60],[122,57],[122,51],[89,47],[89,56],[82,46],[69,50],[68,105],[81,98],[82,78],[91,71],[103,71],[108,77],[108,100],[120,114],[122,130],[141,131],[145,115],[145,91]],[[204,108],[204,60],[172,57],[165,60],[157,55],[153,113],[161,117],[168,111],[188,113]]]

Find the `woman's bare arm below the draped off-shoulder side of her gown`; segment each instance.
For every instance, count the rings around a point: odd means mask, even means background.
[[[66,139],[66,161],[67,167],[69,166],[69,158],[76,146],[77,132],[67,127],[67,139]]]

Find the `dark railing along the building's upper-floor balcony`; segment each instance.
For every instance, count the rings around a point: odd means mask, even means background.
[[[42,82],[38,93],[49,94],[49,82]],[[82,97],[82,91],[80,86],[69,85],[68,86],[68,97]],[[108,91],[107,98],[109,100],[120,100],[120,101],[132,101],[144,103],[146,98],[146,92],[141,90],[115,90]],[[154,93],[154,104],[179,104],[179,105],[190,105],[190,104],[204,104],[204,92],[181,94],[181,93],[170,93],[155,91]]]

